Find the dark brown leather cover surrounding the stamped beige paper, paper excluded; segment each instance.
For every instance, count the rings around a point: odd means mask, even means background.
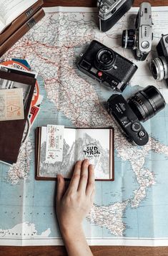
[[[26,119],[31,107],[31,99],[34,93],[36,79],[3,71],[0,71],[0,78],[31,85],[29,99],[24,110],[24,119],[0,121],[0,160],[7,163],[16,163],[26,125]]]

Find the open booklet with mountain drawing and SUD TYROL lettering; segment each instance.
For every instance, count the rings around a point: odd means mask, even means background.
[[[71,179],[74,163],[89,159],[96,180],[114,181],[113,128],[36,128],[36,179]]]

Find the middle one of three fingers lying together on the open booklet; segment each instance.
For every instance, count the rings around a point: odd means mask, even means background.
[[[82,192],[82,191],[84,193],[86,192],[87,180],[88,180],[88,167],[89,167],[89,161],[88,159],[85,159],[81,165],[81,177],[80,177],[79,186],[78,186],[79,192]]]

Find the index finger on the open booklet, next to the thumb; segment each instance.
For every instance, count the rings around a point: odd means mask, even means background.
[[[74,166],[74,173],[71,177],[71,182],[67,191],[77,191],[79,186],[79,180],[81,176],[81,163],[82,161],[77,161]]]

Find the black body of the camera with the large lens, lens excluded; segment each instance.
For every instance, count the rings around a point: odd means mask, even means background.
[[[114,94],[109,100],[109,114],[113,115],[122,131],[129,140],[138,146],[144,146],[149,141],[147,131],[139,122],[137,115],[122,95]]]

